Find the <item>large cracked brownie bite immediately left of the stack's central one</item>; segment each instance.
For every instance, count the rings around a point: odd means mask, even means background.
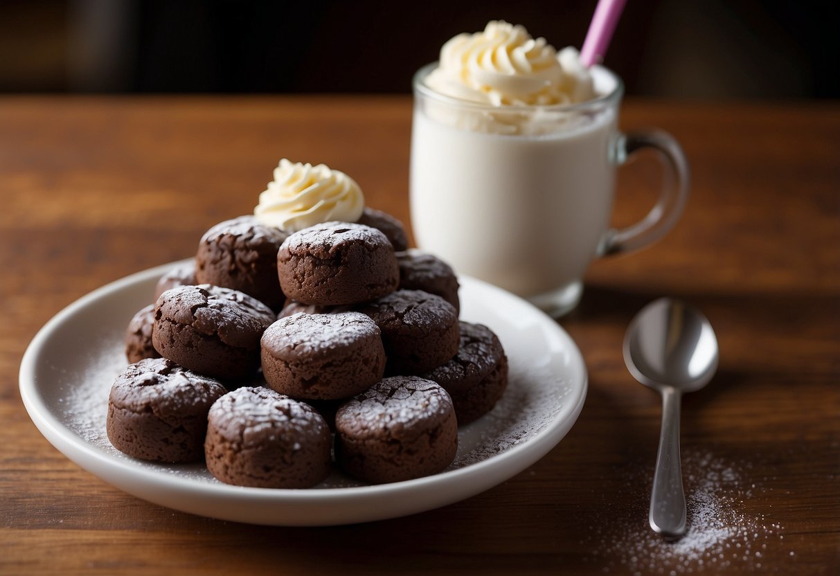
[[[164,358],[199,374],[253,379],[260,338],[275,318],[268,306],[242,292],[208,284],[179,286],[155,304],[152,343]]]

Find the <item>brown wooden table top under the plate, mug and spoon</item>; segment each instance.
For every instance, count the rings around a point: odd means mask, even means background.
[[[408,97],[0,99],[0,573],[785,573],[840,570],[840,105],[630,101],[622,128],[685,146],[679,227],[605,259],[560,323],[589,393],[569,435],[459,504],[357,526],[239,525],[125,495],[30,422],[18,365],[88,291],[194,254],[277,161],[354,175],[408,223]],[[651,163],[653,165],[653,163]],[[617,223],[659,176],[622,175]],[[622,361],[656,296],[711,319],[720,372],[683,411],[692,533],[647,526],[659,397]]]

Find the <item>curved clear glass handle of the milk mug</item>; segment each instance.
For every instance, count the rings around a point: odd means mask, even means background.
[[[622,134],[616,142],[616,160],[623,165],[643,148],[659,152],[665,167],[665,181],[659,200],[638,223],[606,233],[601,254],[614,255],[638,250],[662,238],[680,218],[688,200],[689,170],[680,144],[670,134],[660,131]]]

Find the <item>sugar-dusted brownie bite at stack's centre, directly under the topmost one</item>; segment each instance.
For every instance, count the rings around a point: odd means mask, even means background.
[[[360,312],[282,318],[265,330],[261,347],[265,381],[293,398],[348,398],[385,372],[380,330]]]

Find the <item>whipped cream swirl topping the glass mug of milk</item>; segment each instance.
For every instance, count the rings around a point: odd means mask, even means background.
[[[426,79],[435,92],[492,106],[550,106],[595,97],[577,50],[560,55],[520,25],[491,21],[483,32],[458,34],[440,50]]]

